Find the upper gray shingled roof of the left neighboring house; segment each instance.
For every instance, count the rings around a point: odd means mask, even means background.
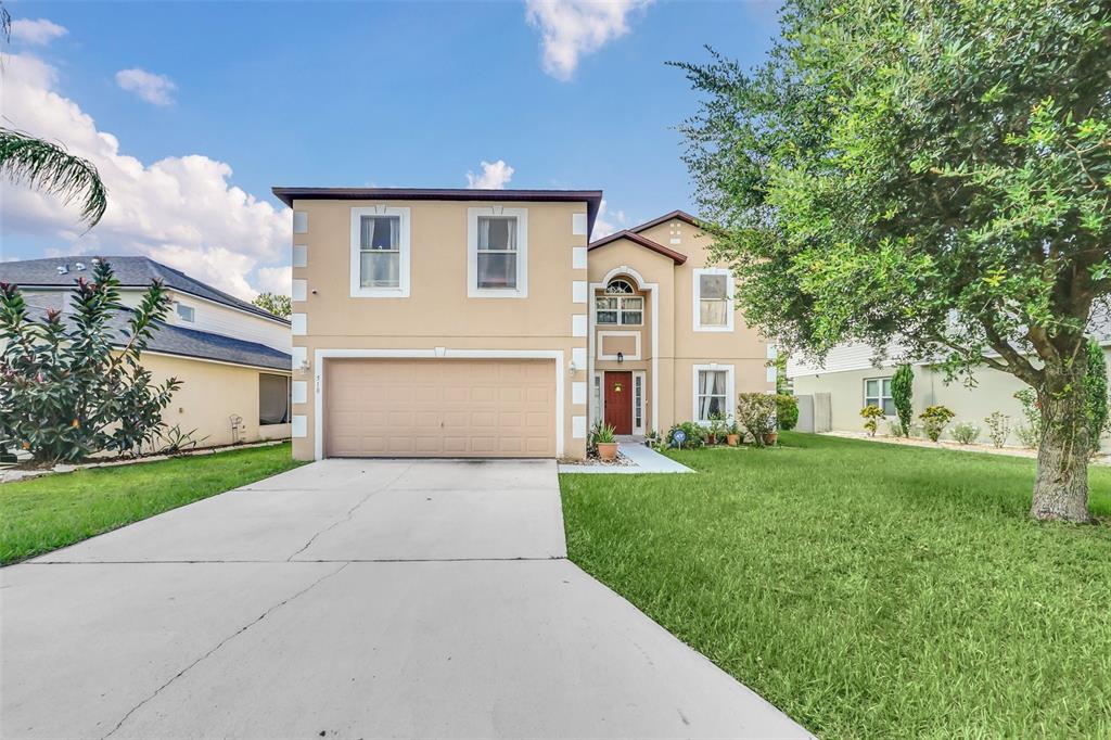
[[[20,260],[17,262],[0,262],[0,281],[14,283],[21,288],[72,288],[81,276],[92,276],[92,260],[89,256],[58,257],[46,260]],[[263,319],[289,324],[287,319],[260,309],[253,303],[229,296],[222,290],[190,278],[180,270],[174,270],[149,257],[101,257],[99,259],[111,263],[116,278],[123,288],[147,288],[152,280],[161,280],[167,288],[197,296],[216,303],[222,303],[240,311],[247,311]],[[84,263],[86,270],[76,268]],[[58,268],[66,266],[68,272],[59,274]]]

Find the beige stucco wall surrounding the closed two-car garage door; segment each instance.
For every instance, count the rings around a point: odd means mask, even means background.
[[[351,209],[369,206],[410,209],[408,298],[350,296]],[[468,209],[481,207],[528,209],[527,298],[468,297]],[[563,456],[585,456],[573,419],[585,417],[587,407],[573,403],[572,383],[588,377],[585,367],[568,371],[572,350],[585,351],[588,341],[572,331],[572,316],[588,312],[572,294],[572,283],[587,280],[587,270],[572,264],[572,248],[587,243],[573,233],[572,216],[585,213],[585,202],[303,200],[293,210],[308,213],[309,223],[307,233],[293,234],[308,254],[307,267],[293,268],[293,279],[307,281],[307,300],[293,303],[294,314],[306,314],[307,333],[294,336],[293,347],[304,348],[310,363],[294,371],[308,387],[306,402],[293,406],[306,429],[293,440],[297,459],[314,457],[316,351],[338,349],[562,351]]]

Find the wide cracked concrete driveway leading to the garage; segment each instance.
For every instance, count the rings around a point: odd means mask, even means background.
[[[0,571],[0,734],[807,737],[565,554],[554,462],[306,466]]]

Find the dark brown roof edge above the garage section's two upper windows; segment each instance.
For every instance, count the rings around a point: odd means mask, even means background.
[[[497,200],[587,202],[587,233],[602,203],[601,190],[479,190],[471,188],[271,188],[290,208],[294,200]]]

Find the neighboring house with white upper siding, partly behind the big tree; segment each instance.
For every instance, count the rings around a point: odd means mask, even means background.
[[[1108,357],[1111,342],[1101,343]],[[895,359],[877,362],[871,347],[845,343],[831,349],[821,364],[789,358],[787,377],[800,397],[800,431],[863,432],[860,410],[870,403],[883,409],[888,422],[894,423],[898,417],[891,401],[891,376],[900,364],[900,348],[892,346],[888,356]],[[1108,357],[1108,364],[1111,367],[1111,357]],[[949,432],[953,424],[971,421],[980,427],[980,441],[988,442],[984,418],[993,411],[1011,417],[1012,430],[1022,423],[1022,407],[1014,393],[1029,386],[1010,373],[979,368],[973,373],[975,386],[970,388],[960,380],[945,383],[944,372],[927,362],[912,362],[911,369],[914,372],[912,409],[915,422],[928,406],[939,403],[957,414],[942,439],[951,439]],[[812,413],[808,409],[811,403]],[[879,432],[887,431],[888,423],[881,421]],[[1007,444],[1019,446],[1013,431]],[[1102,446],[1107,446],[1105,440]]]

